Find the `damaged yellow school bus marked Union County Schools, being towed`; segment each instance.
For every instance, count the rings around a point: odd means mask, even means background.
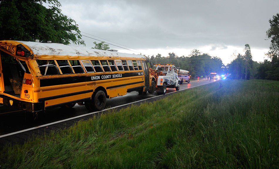
[[[150,91],[143,55],[58,43],[0,41],[0,105],[39,112],[76,103],[105,108],[106,99]]]

